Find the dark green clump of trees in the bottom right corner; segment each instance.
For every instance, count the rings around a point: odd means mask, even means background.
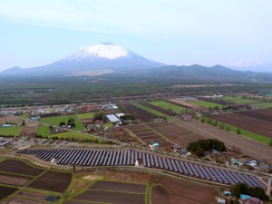
[[[260,187],[249,187],[246,183],[238,183],[231,189],[232,194],[236,197],[239,197],[240,194],[246,194],[257,199],[269,200],[269,197],[266,194],[265,189]]]

